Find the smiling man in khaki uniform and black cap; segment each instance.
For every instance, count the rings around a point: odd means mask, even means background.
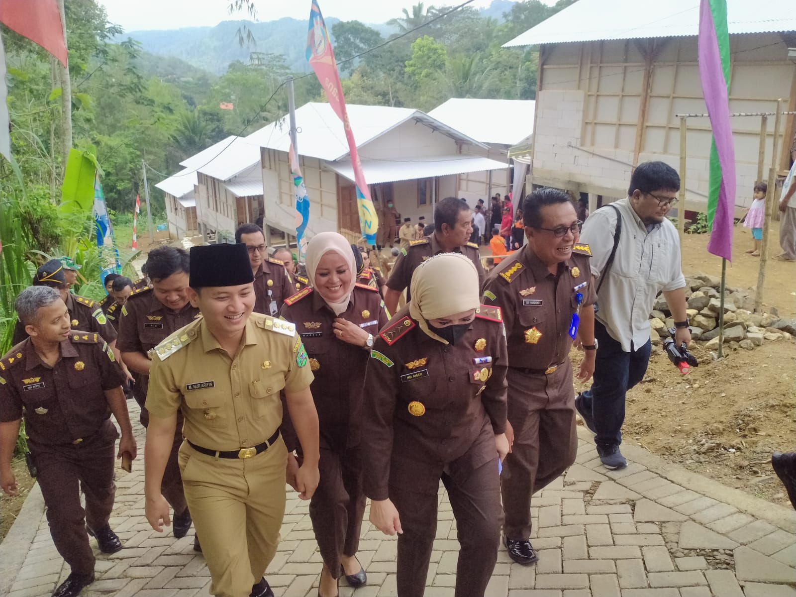
[[[191,248],[188,292],[203,317],[155,348],[146,396],[146,519],[158,532],[170,524],[160,486],[179,410],[185,500],[213,577],[210,592],[223,597],[273,595],[263,573],[285,506],[280,390],[304,453],[299,497],[310,499],[318,486],[308,357],[293,324],[252,314],[253,278],[245,244]]]

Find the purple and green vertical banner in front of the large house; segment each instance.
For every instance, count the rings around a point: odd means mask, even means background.
[[[708,252],[732,260],[736,150],[730,124],[730,36],[727,0],[700,0],[699,74],[713,130],[708,177]]]

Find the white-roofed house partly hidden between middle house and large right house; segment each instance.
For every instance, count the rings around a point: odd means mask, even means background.
[[[490,197],[505,195],[512,189],[515,177],[525,178],[525,160],[533,139],[533,100],[478,100],[454,97],[441,103],[428,115],[468,137],[482,142],[487,157],[505,162],[505,170],[462,174],[462,184],[481,188],[486,177]],[[515,163],[521,166],[515,168]]]

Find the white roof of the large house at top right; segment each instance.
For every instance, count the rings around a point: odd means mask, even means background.
[[[700,0],[579,0],[503,47],[697,34]],[[730,33],[796,31],[793,0],[727,0]]]

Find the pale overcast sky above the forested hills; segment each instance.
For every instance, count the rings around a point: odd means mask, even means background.
[[[542,0],[554,4],[555,0]],[[230,0],[99,0],[107,9],[108,19],[126,31],[140,29],[180,29],[199,25],[217,25],[220,21],[248,18],[248,14],[228,13]],[[402,8],[411,10],[417,0],[319,0],[324,16],[342,21],[357,19],[366,23],[383,23],[399,16]],[[482,8],[491,0],[475,0],[470,6]],[[426,5],[432,2],[426,2]],[[456,6],[460,2],[433,2]],[[310,0],[255,0],[257,19],[275,21],[283,17],[307,19]]]

